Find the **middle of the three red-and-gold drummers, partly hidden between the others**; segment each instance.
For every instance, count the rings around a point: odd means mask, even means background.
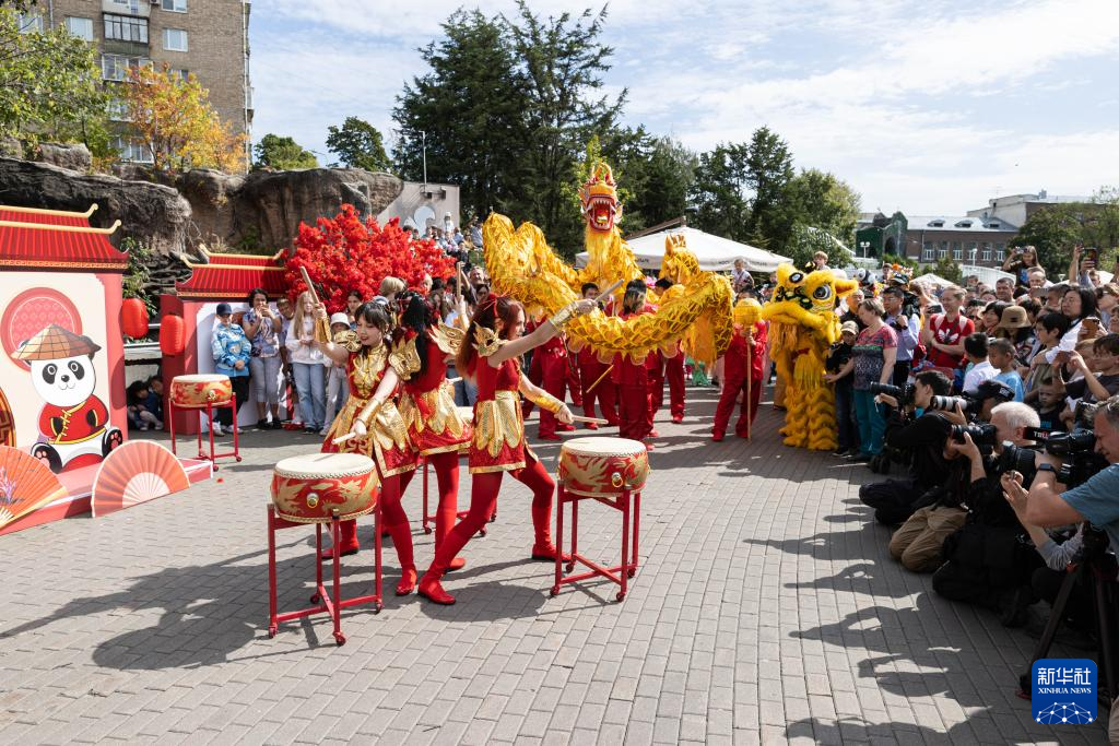
[[[404,390],[399,410],[408,440],[435,470],[439,508],[435,512],[435,551],[454,526],[459,509],[459,451],[470,443],[470,425],[454,406],[454,387],[446,380],[446,363],[454,359],[466,332],[439,322],[423,295],[407,291],[397,295],[401,332],[396,351],[403,361]],[[460,314],[464,313],[460,311]],[[463,315],[460,315],[463,318]],[[403,478],[402,491],[412,478]],[[394,539],[395,540],[395,539]],[[466,560],[455,557],[450,569]]]

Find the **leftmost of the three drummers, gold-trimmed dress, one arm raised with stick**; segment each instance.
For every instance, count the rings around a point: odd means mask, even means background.
[[[316,313],[322,321],[328,318],[327,308],[321,303]],[[380,475],[380,514],[401,561],[401,583],[396,586],[396,595],[406,596],[415,588],[416,566],[412,554],[412,529],[401,507],[401,479],[415,470],[416,452],[392,399],[399,385],[397,370],[404,366],[385,344],[389,319],[382,305],[363,303],[355,318],[356,330],[341,332],[336,340],[317,340],[319,349],[328,358],[346,365],[349,379],[349,398],[335,417],[322,452],[360,453],[376,462]],[[316,324],[316,332],[321,334],[320,324]],[[354,437],[339,445],[333,444],[335,438],[348,433]],[[329,551],[339,551],[345,556],[356,553],[358,548],[357,522],[342,521],[339,546]]]

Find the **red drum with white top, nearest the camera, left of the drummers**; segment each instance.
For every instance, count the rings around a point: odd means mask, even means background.
[[[342,520],[377,507],[377,468],[359,453],[314,453],[284,459],[272,472],[272,503],[293,523]]]

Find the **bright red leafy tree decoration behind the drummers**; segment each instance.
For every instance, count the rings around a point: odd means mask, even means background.
[[[361,220],[352,205],[342,205],[333,218],[316,225],[299,224],[294,254],[288,257],[284,280],[294,300],[307,290],[299,268],[307,273],[331,313],[346,309],[351,290],[373,299],[385,277],[399,277],[408,287],[422,289],[424,274],[450,277],[454,259],[431,239],[413,240],[398,218],[384,226],[374,218]]]

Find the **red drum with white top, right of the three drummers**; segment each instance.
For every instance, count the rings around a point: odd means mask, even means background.
[[[640,492],[649,475],[649,452],[623,437],[576,437],[560,450],[564,489],[589,497]]]

